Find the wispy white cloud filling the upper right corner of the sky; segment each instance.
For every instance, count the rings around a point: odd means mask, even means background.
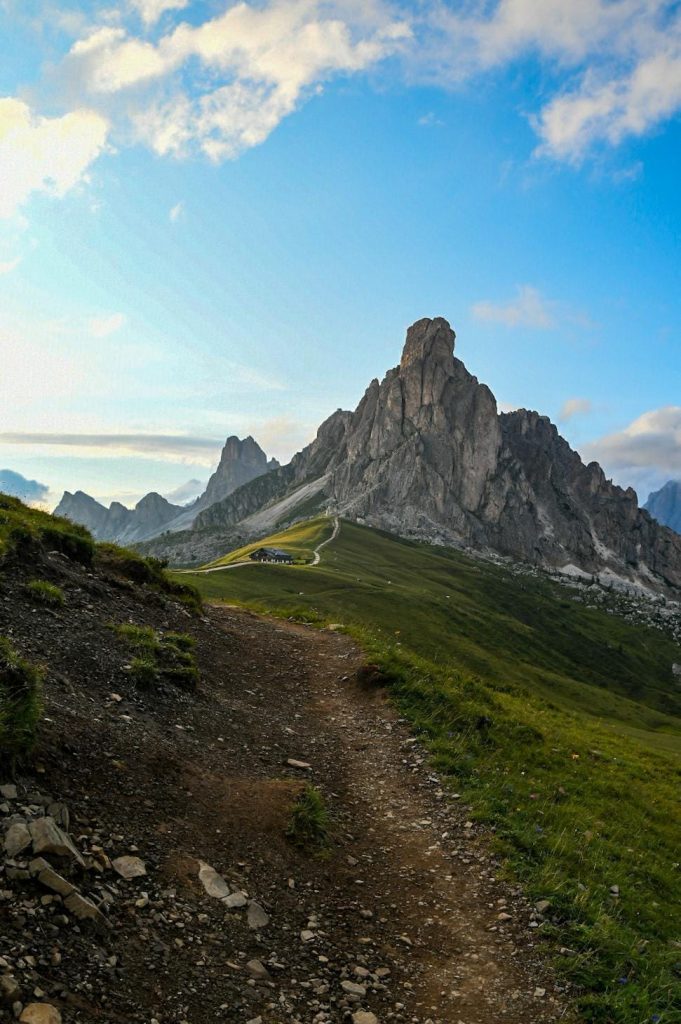
[[[463,10],[461,9],[463,7]],[[417,74],[456,84],[531,56],[562,79],[531,118],[538,154],[579,163],[681,109],[681,11],[674,0],[435,3]]]

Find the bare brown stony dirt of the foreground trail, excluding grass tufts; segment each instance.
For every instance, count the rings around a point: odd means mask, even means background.
[[[132,613],[126,591],[117,600]],[[383,691],[357,681],[347,637],[213,607],[191,627],[199,692],[144,693],[111,668],[111,630],[18,614],[12,628],[53,670],[46,767],[16,780],[9,810],[66,802],[100,862],[77,881],[107,925],[19,876],[0,900],[0,956],[25,1001],[33,986],[63,1024],[563,1019],[541,918],[495,882],[466,808]],[[333,821],[323,857],[286,837],[306,782]],[[116,876],[121,856],[146,873]]]

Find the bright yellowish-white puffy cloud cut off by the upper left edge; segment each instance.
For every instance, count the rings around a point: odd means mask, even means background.
[[[105,118],[90,110],[43,118],[20,99],[0,98],[0,219],[34,193],[62,197],[86,180],[108,131]]]

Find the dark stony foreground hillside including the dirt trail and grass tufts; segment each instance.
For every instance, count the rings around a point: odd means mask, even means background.
[[[541,911],[348,637],[5,497],[0,545],[3,1020],[563,1018]]]

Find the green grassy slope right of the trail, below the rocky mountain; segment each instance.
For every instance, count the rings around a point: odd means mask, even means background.
[[[541,931],[568,950],[558,967],[584,1018],[681,1020],[681,650],[665,632],[611,613],[616,597],[588,607],[350,523],[315,567],[182,579],[209,600],[344,624],[509,869],[550,900]]]

